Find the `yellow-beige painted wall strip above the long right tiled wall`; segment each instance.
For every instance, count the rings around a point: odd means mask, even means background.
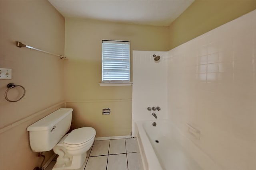
[[[169,26],[169,49],[254,9],[256,0],[196,0]]]

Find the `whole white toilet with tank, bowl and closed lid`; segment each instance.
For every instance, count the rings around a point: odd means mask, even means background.
[[[70,129],[72,111],[58,109],[27,128],[34,152],[53,149],[59,155],[52,170],[81,168],[86,152],[93,144],[96,131],[92,127],[81,127],[66,134]]]

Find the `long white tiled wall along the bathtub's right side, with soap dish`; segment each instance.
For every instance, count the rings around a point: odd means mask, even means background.
[[[256,10],[168,57],[170,120],[223,170],[255,170]],[[186,123],[200,130],[200,140]]]

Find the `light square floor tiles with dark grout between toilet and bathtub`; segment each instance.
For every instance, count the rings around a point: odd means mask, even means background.
[[[135,138],[94,141],[79,170],[140,170]],[[52,170],[56,159],[46,170]]]

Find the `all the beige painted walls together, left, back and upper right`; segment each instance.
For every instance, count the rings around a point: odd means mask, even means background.
[[[167,51],[255,9],[255,1],[196,1],[169,28],[69,18],[64,25],[64,18],[47,1],[1,0],[0,6],[0,66],[12,68],[13,73],[12,80],[0,80],[0,169],[28,170],[38,166],[41,158],[30,150],[26,127],[64,107],[60,103],[64,99],[67,107],[74,108],[72,128],[92,126],[97,137],[130,135],[132,86],[98,85],[101,80],[102,39],[129,40],[131,54],[132,50]],[[212,10],[208,10],[209,6],[213,6]],[[227,10],[232,15],[222,20]],[[199,18],[195,25],[191,23],[191,17]],[[213,20],[220,21],[212,26]],[[188,27],[190,31],[184,30]],[[15,41],[61,55],[64,54],[65,42],[68,60],[61,61],[52,55],[17,48]],[[26,96],[20,102],[10,103],[4,99],[6,85],[10,82],[26,88]],[[14,99],[21,93],[15,88],[10,92],[10,98]],[[57,103],[57,106],[44,110]],[[110,107],[111,115],[102,115],[102,108],[106,107]],[[12,127],[12,124],[42,110],[39,115]],[[46,159],[50,154],[52,152],[46,153]]]

